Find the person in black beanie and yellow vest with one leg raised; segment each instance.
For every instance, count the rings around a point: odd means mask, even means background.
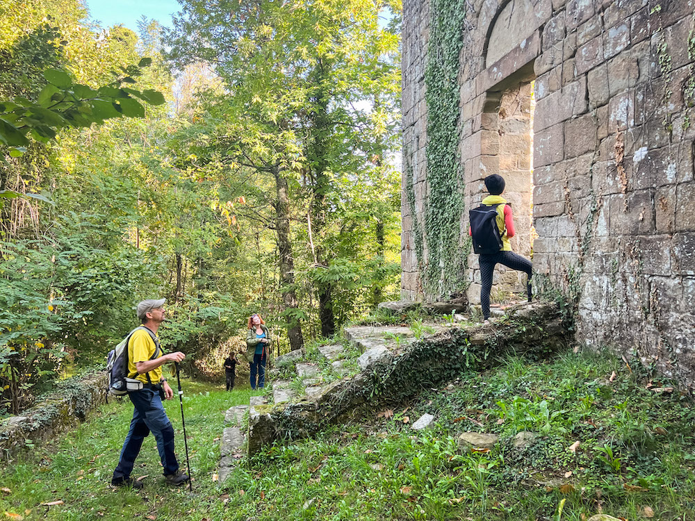
[[[514,217],[512,216],[512,206],[502,197],[502,192],[505,191],[505,179],[498,174],[493,174],[487,176],[484,179],[484,183],[490,195],[482,200],[482,205],[496,208],[496,222],[500,231],[500,238],[502,239],[502,247],[499,251],[491,254],[481,253],[478,257],[480,263],[480,307],[482,308],[483,320],[487,322],[490,317],[490,290],[492,289],[492,276],[495,272],[495,266],[500,263],[503,266],[512,268],[512,270],[526,272],[528,275],[526,294],[530,302],[532,264],[527,258],[515,254],[512,251],[512,245],[509,244],[509,239],[514,237]],[[468,235],[473,235],[473,231],[470,228],[468,229]]]

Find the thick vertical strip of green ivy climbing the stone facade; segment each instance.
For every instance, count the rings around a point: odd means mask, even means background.
[[[463,204],[462,166],[459,161],[459,54],[463,47],[466,3],[432,2],[427,42],[427,185],[422,223],[427,263],[420,275],[423,289],[433,297],[448,297],[466,289],[467,251],[461,251]],[[419,249],[419,247],[418,247]],[[465,249],[464,249],[465,250]],[[420,257],[420,263],[422,258]]]

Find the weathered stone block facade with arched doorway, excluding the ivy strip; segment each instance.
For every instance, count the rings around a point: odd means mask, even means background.
[[[530,254],[533,225],[536,286],[549,281],[576,299],[578,340],[636,352],[690,386],[694,10],[695,0],[471,0],[459,64],[461,244],[482,179],[501,174],[518,227],[514,249]],[[413,183],[416,213],[427,205],[432,15],[429,1],[404,1],[404,164],[411,169],[403,181]],[[524,210],[530,204],[532,222]],[[430,299],[419,283],[405,194],[402,225],[402,297]],[[426,249],[427,231],[423,242]],[[480,292],[476,261],[468,258],[472,302]],[[499,272],[496,282],[517,280]]]

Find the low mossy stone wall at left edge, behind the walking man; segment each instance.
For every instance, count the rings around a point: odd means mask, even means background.
[[[60,389],[21,416],[0,422],[0,460],[8,460],[28,448],[26,441],[45,443],[85,421],[106,402],[106,372],[68,379]]]

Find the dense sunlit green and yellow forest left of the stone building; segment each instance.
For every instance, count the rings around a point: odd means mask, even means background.
[[[204,372],[254,311],[286,352],[397,295],[400,1],[0,13],[0,414],[103,365],[140,299]]]

